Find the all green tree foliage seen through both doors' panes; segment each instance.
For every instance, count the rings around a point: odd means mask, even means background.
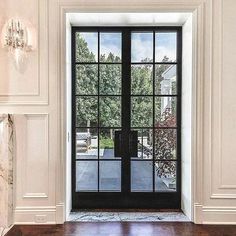
[[[94,62],[95,55],[89,51],[86,41],[79,33],[76,35],[76,60],[79,62]],[[112,65],[110,62],[120,62],[121,59],[112,53],[100,55],[101,64],[99,93],[101,95],[121,95],[121,65]],[[163,62],[168,58],[164,57]],[[150,62],[146,58],[143,62]],[[161,94],[160,83],[162,74],[169,65],[155,67],[155,94]],[[98,67],[85,64],[76,66],[76,93],[79,95],[98,94]],[[132,97],[131,120],[133,127],[152,126],[153,99],[145,95],[153,94],[153,68],[152,65],[133,65],[131,68],[131,93],[144,95]],[[77,99],[77,123],[81,126],[97,125],[98,101],[97,97],[80,97]],[[161,120],[161,99],[155,100],[155,119]],[[119,97],[100,97],[100,124],[102,126],[121,126],[121,99]],[[156,123],[154,124],[156,125]],[[112,136],[112,135],[111,135]]]

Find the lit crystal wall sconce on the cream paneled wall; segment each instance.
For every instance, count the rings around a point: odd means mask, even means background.
[[[2,47],[14,56],[14,64],[23,72],[27,53],[36,47],[35,32],[30,23],[19,19],[9,19],[2,29]]]

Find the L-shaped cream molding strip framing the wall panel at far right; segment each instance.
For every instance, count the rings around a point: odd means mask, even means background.
[[[214,34],[215,38],[212,43],[212,48],[218,49],[212,51],[214,68],[213,68],[213,76],[214,80],[212,80],[212,97],[214,97],[215,103],[212,105],[211,113],[212,115],[212,123],[211,123],[211,137],[213,140],[211,141],[211,179],[216,180],[214,183],[211,181],[211,199],[236,199],[236,184],[225,184],[223,183],[223,166],[224,166],[224,154],[223,154],[223,139],[222,139],[222,130],[223,130],[223,66],[224,66],[224,8],[223,8],[223,0],[215,0],[212,2],[215,14],[212,16],[212,21],[215,25],[212,27],[212,34]],[[217,12],[217,14],[216,14]],[[213,98],[212,98],[213,100]],[[223,190],[229,190],[227,193],[222,193]]]

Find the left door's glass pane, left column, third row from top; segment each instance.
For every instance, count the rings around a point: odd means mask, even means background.
[[[76,98],[76,125],[79,127],[97,126],[97,97]]]

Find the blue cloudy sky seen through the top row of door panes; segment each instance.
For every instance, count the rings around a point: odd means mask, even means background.
[[[98,54],[98,34],[81,33],[81,36],[88,43],[90,51],[96,58]],[[131,42],[131,58],[133,62],[140,62],[144,58],[153,56],[153,34],[133,33]],[[174,61],[176,55],[176,33],[156,33],[156,61],[162,61],[166,55]],[[102,54],[108,55],[112,52],[121,57],[121,33],[100,33],[100,50]]]

